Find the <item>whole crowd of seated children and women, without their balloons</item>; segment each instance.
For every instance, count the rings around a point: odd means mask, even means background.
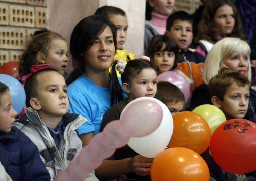
[[[157,98],[171,115],[213,104],[227,120],[244,118],[256,123],[256,92],[250,87],[251,49],[233,3],[206,3],[197,27],[187,12],[173,12],[174,3],[147,1],[152,8],[145,24],[147,56],[140,59],[123,49],[127,16],[114,6],[102,6],[80,20],[71,33],[69,48],[62,35],[53,31],[33,37],[19,65],[26,103],[18,115],[11,106],[8,86],[0,80],[0,169],[5,170],[0,178],[55,179],[96,134],[120,119],[125,106],[139,97]],[[193,28],[197,28],[195,38]],[[63,76],[67,52],[73,71]],[[174,84],[157,83],[157,76],[166,71],[185,77],[190,85],[188,101]],[[202,157],[213,181],[254,179],[253,172],[234,175],[221,171],[209,154]],[[150,181],[152,161],[125,145],[85,180]]]

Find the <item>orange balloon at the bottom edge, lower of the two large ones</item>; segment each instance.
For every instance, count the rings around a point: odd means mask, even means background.
[[[169,148],[153,160],[152,181],[209,181],[209,168],[203,158],[187,148]]]

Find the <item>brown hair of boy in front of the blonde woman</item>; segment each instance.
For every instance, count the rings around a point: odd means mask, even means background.
[[[218,74],[209,81],[210,97],[216,96],[223,101],[227,88],[233,83],[237,84],[239,87],[250,86],[250,81],[245,75],[229,68],[221,68]]]

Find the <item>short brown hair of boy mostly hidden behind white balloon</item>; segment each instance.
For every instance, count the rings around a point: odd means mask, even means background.
[[[167,81],[160,81],[157,83],[157,93],[155,94],[155,98],[164,104],[168,102],[186,103],[185,96],[181,92],[181,89]]]

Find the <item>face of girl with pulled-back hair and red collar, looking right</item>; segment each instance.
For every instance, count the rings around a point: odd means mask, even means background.
[[[51,68],[58,70],[63,75],[69,60],[67,51],[67,43],[65,41],[54,40],[45,56],[45,64],[49,64]]]

